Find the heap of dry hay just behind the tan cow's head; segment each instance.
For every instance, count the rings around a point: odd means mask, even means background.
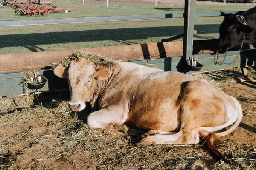
[[[69,67],[70,62],[79,58],[86,58],[91,62],[107,62],[110,61],[111,58],[105,57],[104,55],[99,55],[95,53],[89,53],[88,51],[85,53],[83,51],[78,52],[78,53],[73,53],[69,57],[65,57],[64,60],[59,62],[57,65],[58,66],[64,66],[64,67]]]

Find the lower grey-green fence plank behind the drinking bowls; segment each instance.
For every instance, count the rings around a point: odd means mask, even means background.
[[[241,51],[241,56],[239,51],[228,51],[225,54],[220,54],[219,60],[224,61],[226,64],[218,65],[215,62],[215,55],[212,54],[201,54],[195,55],[195,58],[199,63],[203,65],[203,68],[198,72],[207,72],[214,70],[222,70],[234,67],[247,67],[255,66],[256,59],[253,58],[256,54],[256,49],[253,50],[243,50]],[[140,65],[145,65],[147,67],[159,68],[166,71],[178,71],[180,69],[179,62],[180,57],[165,57],[159,59],[151,59],[151,61],[141,60],[132,61]],[[253,60],[251,60],[253,59]],[[252,62],[253,61],[253,62]],[[187,68],[187,65],[186,65]],[[68,84],[66,79],[60,79],[53,74],[53,69],[46,69],[39,71],[47,79],[47,83],[44,88],[40,91],[54,91],[58,89],[67,89]],[[194,72],[190,71],[189,74]],[[21,77],[26,75],[27,72],[20,73],[9,73],[0,74],[0,96],[13,97],[19,94],[34,93],[35,90],[28,90],[21,84]]]

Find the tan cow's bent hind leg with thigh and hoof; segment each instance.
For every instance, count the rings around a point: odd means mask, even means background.
[[[180,97],[180,131],[171,135],[155,134],[147,136],[138,143],[139,145],[198,144],[201,126],[209,127],[215,126],[214,122],[222,123],[225,110],[223,103],[214,97],[212,91],[203,82],[189,82]]]

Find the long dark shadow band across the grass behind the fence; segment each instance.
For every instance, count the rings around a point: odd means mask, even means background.
[[[197,25],[195,25],[197,28]],[[209,30],[209,27],[211,28]],[[218,24],[198,25],[197,31],[204,34],[218,33]],[[31,33],[0,35],[0,49],[5,47],[24,47],[32,52],[46,51],[38,45],[64,44],[72,42],[95,42],[111,40],[123,42],[125,44],[137,44],[133,40],[146,40],[152,37],[173,37],[183,34],[183,26],[163,26],[148,28],[120,28],[120,29],[100,29],[88,31],[67,31],[49,33]],[[11,41],[10,41],[11,40]]]

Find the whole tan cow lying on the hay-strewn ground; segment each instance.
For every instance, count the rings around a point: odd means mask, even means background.
[[[58,66],[54,74],[68,79],[72,111],[83,110],[85,102],[98,108],[88,116],[88,125],[119,132],[125,123],[149,130],[138,143],[142,146],[198,144],[203,136],[212,147],[216,137],[231,133],[242,119],[235,98],[188,74],[87,59],[71,62],[69,69]]]

